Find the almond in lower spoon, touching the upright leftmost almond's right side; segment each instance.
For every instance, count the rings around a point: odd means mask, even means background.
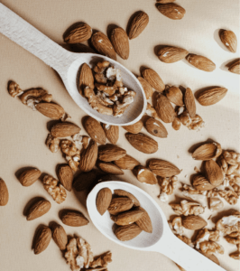
[[[130,210],[134,206],[134,201],[129,198],[125,197],[119,197],[119,198],[113,198],[109,207],[108,211],[112,215],[116,215],[119,212]]]

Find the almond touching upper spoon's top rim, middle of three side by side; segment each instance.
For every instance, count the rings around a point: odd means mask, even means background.
[[[106,37],[106,34],[99,31],[94,33],[92,35],[91,42],[98,52],[116,61],[115,50],[112,43]]]

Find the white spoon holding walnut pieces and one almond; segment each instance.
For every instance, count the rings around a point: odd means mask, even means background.
[[[134,74],[125,69],[117,61],[96,53],[74,53],[52,42],[47,36],[35,29],[30,23],[14,14],[5,5],[0,4],[0,33],[3,33],[13,42],[32,52],[36,57],[51,66],[59,74],[69,95],[89,116],[109,125],[126,126],[138,121],[145,112],[146,98],[143,88]],[[122,117],[106,116],[98,113],[89,106],[88,100],[78,93],[77,74],[82,63],[86,62],[90,67],[97,61],[110,61],[115,68],[122,72],[126,87],[136,92],[134,103],[128,107]],[[57,99],[57,98],[56,98]]]

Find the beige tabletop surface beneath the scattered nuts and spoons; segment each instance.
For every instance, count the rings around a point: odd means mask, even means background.
[[[194,173],[194,166],[200,165],[200,162],[191,158],[188,151],[190,146],[213,139],[224,149],[240,151],[239,76],[225,68],[227,61],[239,57],[239,47],[235,54],[226,51],[217,35],[221,28],[239,33],[237,0],[178,1],[187,11],[180,21],[173,21],[160,14],[153,0],[3,0],[1,3],[60,44],[63,44],[62,33],[71,23],[84,21],[92,28],[106,33],[110,23],[125,28],[131,14],[143,10],[149,14],[150,23],[138,38],[130,42],[129,59],[123,61],[118,57],[118,61],[135,74],[139,74],[141,66],[149,66],[159,72],[166,84],[182,85],[194,92],[214,85],[224,86],[229,90],[226,98],[215,106],[201,107],[197,104],[197,112],[206,122],[206,127],[200,132],[189,131],[184,126],[180,131],[174,131],[171,125],[165,125],[169,136],[166,139],[154,138],[159,143],[159,151],[156,154],[142,154],[135,150],[126,141],[123,128],[120,129],[118,145],[124,147],[128,154],[133,155],[143,165],[152,157],[171,161],[182,169],[179,180],[186,183],[189,183],[189,174]],[[237,37],[239,40],[239,34]],[[205,55],[216,63],[217,69],[208,73],[190,67],[187,61],[162,63],[154,54],[154,47],[160,44],[176,45]],[[82,128],[82,134],[86,135],[81,125],[81,118],[86,114],[69,97],[57,73],[0,34],[0,176],[5,180],[10,193],[8,204],[0,207],[0,270],[68,271],[69,266],[53,241],[41,255],[34,256],[32,237],[39,224],[48,225],[51,221],[61,223],[58,213],[63,208],[81,210],[87,217],[88,212],[78,200],[80,195],[77,193],[68,192],[67,200],[58,205],[44,191],[40,181],[25,188],[16,179],[15,172],[30,165],[56,176],[56,165],[64,163],[64,158],[60,153],[51,154],[44,145],[49,119],[33,112],[29,107],[24,107],[18,98],[11,98],[6,90],[9,79],[18,82],[22,89],[48,89],[54,100],[66,109],[72,121]],[[144,129],[143,133],[146,133]],[[146,186],[138,182],[130,171],[125,171],[122,179],[149,192],[168,219],[174,214],[168,204],[158,199],[158,185]],[[179,199],[179,189],[175,195],[170,197],[170,201]],[[51,210],[42,218],[26,221],[23,216],[24,207],[37,196],[50,200]],[[207,205],[207,201],[204,201],[204,204]],[[230,206],[225,201],[225,210],[236,210],[238,207]],[[220,212],[223,213],[225,212]],[[208,220],[210,214],[207,208],[204,218]],[[213,221],[217,220],[217,212],[213,212],[212,215],[212,219],[208,220],[208,229],[211,229],[214,226]],[[107,250],[112,251],[113,263],[109,266],[110,271],[179,270],[170,259],[160,254],[139,252],[116,245],[101,235],[91,222],[82,228],[64,228],[69,235],[78,234],[86,238],[95,255]],[[186,230],[187,236],[191,237],[192,234],[192,231]],[[221,266],[228,271],[239,270],[239,261],[228,256],[235,251],[235,246],[229,245],[223,238],[221,244],[226,248],[223,256],[217,256]]]

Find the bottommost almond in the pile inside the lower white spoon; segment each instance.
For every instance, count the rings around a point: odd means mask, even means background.
[[[143,230],[135,223],[127,226],[119,226],[115,229],[115,236],[120,241],[129,241],[137,237]]]

